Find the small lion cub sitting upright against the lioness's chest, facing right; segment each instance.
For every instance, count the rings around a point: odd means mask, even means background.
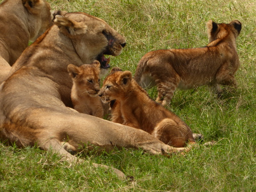
[[[69,64],[67,71],[73,80],[71,100],[74,109],[80,113],[103,118],[103,106],[98,95],[99,61],[93,61],[92,64],[83,64],[80,67]]]

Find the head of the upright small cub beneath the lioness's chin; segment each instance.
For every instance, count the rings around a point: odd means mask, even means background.
[[[75,93],[82,95],[98,96],[99,92],[99,61],[93,61],[92,64],[84,64],[76,67],[73,64],[67,66],[67,71],[73,80],[73,89]]]

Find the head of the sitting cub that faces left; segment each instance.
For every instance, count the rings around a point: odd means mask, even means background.
[[[102,102],[109,102],[114,99],[122,99],[131,87],[131,71],[122,71],[114,67],[111,73],[105,78],[99,96]]]

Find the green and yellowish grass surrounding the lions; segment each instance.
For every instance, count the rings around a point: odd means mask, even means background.
[[[19,149],[0,144],[0,191],[256,191],[256,3],[254,0],[48,0],[52,9],[87,12],[104,19],[125,36],[122,54],[111,64],[135,72],[151,50],[203,47],[205,23],[239,20],[237,49],[239,88],[221,98],[207,87],[178,90],[169,109],[205,140],[217,144],[195,148],[185,156],[153,156],[122,149],[85,155],[70,167],[60,157],[37,147]],[[148,90],[157,96],[156,89]],[[102,163],[133,176],[119,180],[94,169]]]

